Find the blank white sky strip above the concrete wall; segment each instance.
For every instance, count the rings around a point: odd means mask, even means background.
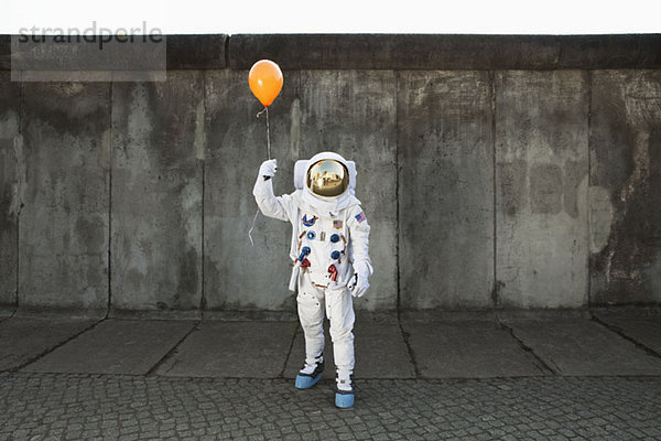
[[[0,33],[660,33],[658,0],[2,0]],[[131,29],[140,30],[131,32]],[[98,32],[97,32],[98,33]]]

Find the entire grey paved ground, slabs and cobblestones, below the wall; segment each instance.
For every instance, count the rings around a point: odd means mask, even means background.
[[[362,314],[355,334],[339,411],[332,368],[293,388],[296,322],[0,318],[0,439],[661,439],[658,309]]]

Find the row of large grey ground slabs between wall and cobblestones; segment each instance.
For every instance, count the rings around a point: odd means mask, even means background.
[[[640,311],[411,312],[399,320],[359,314],[356,376],[661,375],[661,356],[652,348],[659,341],[658,315]],[[610,324],[592,320],[592,314]],[[194,329],[192,321],[109,319],[90,327],[94,323],[4,319],[0,369],[32,361],[23,372],[292,379],[304,358],[296,322],[204,320]],[[326,335],[325,378],[332,380],[333,346]]]

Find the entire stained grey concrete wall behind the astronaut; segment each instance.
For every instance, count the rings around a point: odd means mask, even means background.
[[[277,193],[299,158],[357,161],[376,267],[357,308],[661,302],[658,35],[170,41],[162,83],[0,71],[3,308],[293,312],[290,226],[259,216],[248,239],[261,57],[284,71]]]

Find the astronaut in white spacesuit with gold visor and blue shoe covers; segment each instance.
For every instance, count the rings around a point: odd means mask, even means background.
[[[252,191],[264,216],[292,224],[290,290],[305,334],[305,364],[295,387],[307,389],[324,370],[324,316],[336,365],[335,405],[354,406],[354,297],[369,288],[369,224],[355,196],[356,165],[333,152],[297,161],[291,194],[275,196],[275,160],[264,161]]]

